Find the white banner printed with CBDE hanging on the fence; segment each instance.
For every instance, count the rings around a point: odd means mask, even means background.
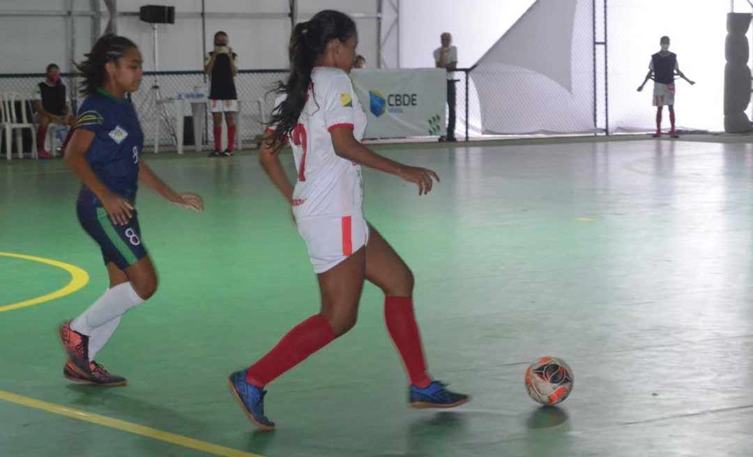
[[[447,72],[444,69],[354,69],[350,75],[366,111],[364,138],[445,134]]]

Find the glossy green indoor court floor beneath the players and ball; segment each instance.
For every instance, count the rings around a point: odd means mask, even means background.
[[[316,312],[319,293],[289,210],[249,152],[145,154],[173,187],[200,193],[206,212],[141,191],[160,290],[98,356],[129,385],[70,384],[56,325],[102,294],[106,272],[65,166],[3,160],[0,252],[90,279],[56,300],[0,308],[0,455],[753,455],[753,145],[380,151],[441,175],[419,197],[366,170],[365,210],[415,273],[432,375],[470,404],[407,408],[369,285],[355,329],[269,386],[277,431],[255,431],[225,378]],[[0,254],[0,306],[70,277]],[[523,372],[541,355],[575,371],[560,407],[526,395]]]

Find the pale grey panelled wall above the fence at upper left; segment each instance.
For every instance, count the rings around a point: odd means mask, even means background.
[[[107,8],[101,3],[102,30],[107,24]],[[211,13],[277,13],[288,14],[288,0],[206,0],[206,12]],[[123,12],[137,12],[142,5],[158,4],[175,7],[176,15],[201,11],[200,0],[118,0]],[[0,2],[0,37],[5,45],[0,49],[0,73],[44,72],[49,62],[66,65],[66,43],[71,32],[64,17],[3,17],[2,11],[63,11],[67,0],[3,0]],[[74,0],[75,9],[90,11],[89,0]],[[300,0],[299,20],[308,20],[316,11],[331,8],[352,14],[377,13],[377,0]],[[358,52],[368,62],[377,62],[377,20],[355,17],[359,32]],[[158,26],[160,70],[200,70],[203,66],[202,40],[207,49],[218,30],[230,36],[230,46],[239,55],[241,69],[282,69],[288,66],[287,47],[291,23],[289,17],[280,19],[210,18],[206,20],[206,37],[201,36],[201,20],[176,17],[175,24]],[[138,17],[119,17],[117,32],[136,41],[145,58],[145,69],[153,70],[151,25]],[[83,58],[91,47],[91,20],[76,19],[76,59]]]

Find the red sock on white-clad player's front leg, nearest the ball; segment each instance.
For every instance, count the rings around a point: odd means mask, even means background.
[[[410,383],[418,388],[425,388],[431,384],[431,378],[426,373],[421,335],[416,324],[416,315],[413,314],[413,298],[385,297],[384,320],[389,336],[403,358]]]

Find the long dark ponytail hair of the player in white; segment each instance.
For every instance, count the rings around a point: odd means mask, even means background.
[[[345,42],[355,34],[355,22],[347,14],[333,10],[319,11],[309,22],[294,27],[288,48],[290,76],[288,82],[280,82],[276,90],[287,94],[287,98],[275,108],[270,121],[270,126],[275,126],[275,133],[270,137],[273,145],[282,145],[298,123],[300,112],[306,105],[316,58],[325,52],[331,40],[337,38]]]

